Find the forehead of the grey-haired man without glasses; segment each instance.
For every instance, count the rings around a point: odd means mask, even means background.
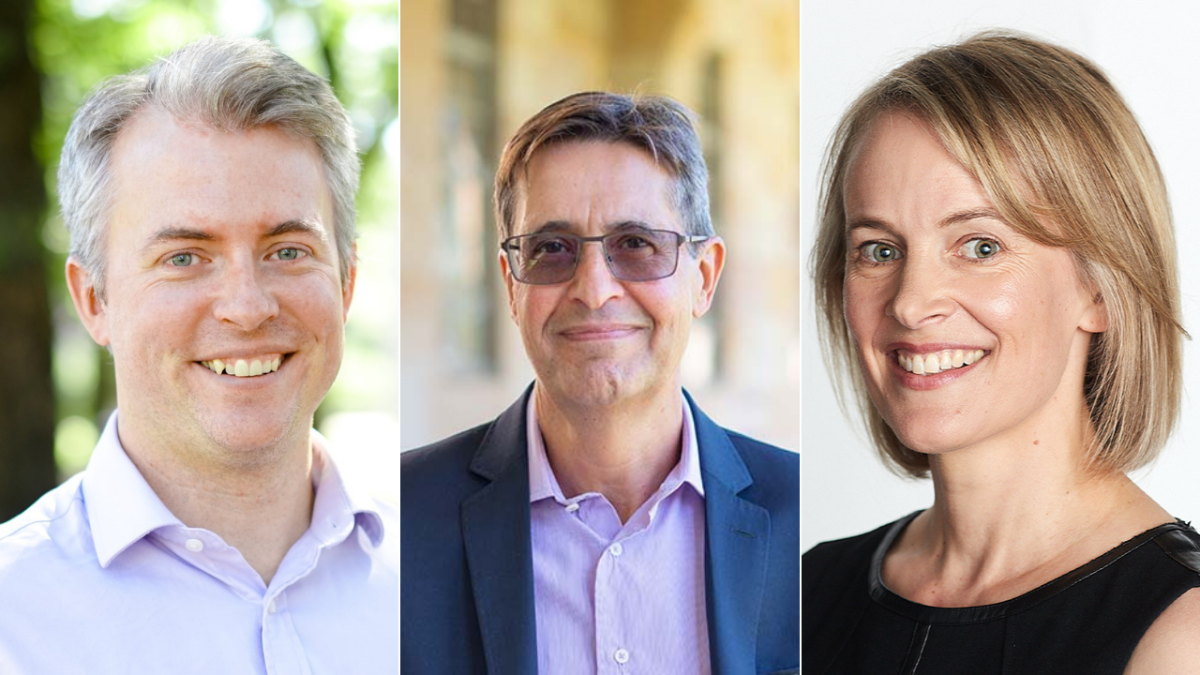
[[[332,201],[316,143],[275,126],[216,130],[150,107],[109,157],[115,226],[324,223]]]

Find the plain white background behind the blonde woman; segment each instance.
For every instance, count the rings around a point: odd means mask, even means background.
[[[988,28],[1021,30],[1098,64],[1142,125],[1170,189],[1183,287],[1183,414],[1158,462],[1134,479],[1164,508],[1200,520],[1200,4],[1193,0],[840,0],[802,17],[802,246],[808,264],[826,143],[846,106],[906,59]],[[803,549],[932,503],[928,480],[883,468],[857,418],[838,410],[803,293]]]

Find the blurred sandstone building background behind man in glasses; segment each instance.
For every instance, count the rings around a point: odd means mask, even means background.
[[[700,114],[727,258],[684,383],[720,424],[799,448],[799,4],[428,0],[401,7],[401,444],[488,422],[532,382],[492,179],[526,119],[582,90]]]

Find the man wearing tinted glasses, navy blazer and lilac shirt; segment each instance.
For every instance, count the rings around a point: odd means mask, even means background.
[[[402,455],[406,673],[774,673],[798,646],[798,456],[682,389],[725,244],[690,113],[577,94],[509,142],[499,268],[535,383]]]

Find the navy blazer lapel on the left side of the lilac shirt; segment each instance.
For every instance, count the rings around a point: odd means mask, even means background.
[[[462,504],[467,569],[491,675],[538,671],[524,429],[528,398],[529,389],[484,437],[470,470],[490,483]]]

